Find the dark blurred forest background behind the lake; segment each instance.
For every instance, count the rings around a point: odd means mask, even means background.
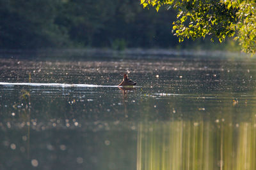
[[[180,44],[175,18],[139,0],[0,0],[0,48],[220,48],[207,38]]]

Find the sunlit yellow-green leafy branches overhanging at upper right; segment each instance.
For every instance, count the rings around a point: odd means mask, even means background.
[[[244,52],[256,52],[255,1],[141,0],[141,4],[144,8],[154,6],[157,11],[161,6],[178,10],[173,33],[179,41],[211,36],[212,41],[218,38],[222,42],[227,37],[236,36]]]

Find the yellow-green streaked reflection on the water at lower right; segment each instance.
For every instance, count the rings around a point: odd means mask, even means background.
[[[137,170],[256,169],[256,117],[233,124],[199,118],[140,123]]]

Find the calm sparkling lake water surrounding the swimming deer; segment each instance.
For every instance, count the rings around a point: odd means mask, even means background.
[[[254,59],[0,59],[0,169],[256,169],[255,77]]]

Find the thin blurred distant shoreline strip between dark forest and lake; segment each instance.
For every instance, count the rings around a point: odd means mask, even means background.
[[[163,48],[127,48],[113,50],[111,48],[44,48],[35,50],[0,49],[0,58],[29,57],[114,57],[114,58],[150,58],[150,57],[250,57],[243,52],[228,52],[223,50],[176,50]]]

